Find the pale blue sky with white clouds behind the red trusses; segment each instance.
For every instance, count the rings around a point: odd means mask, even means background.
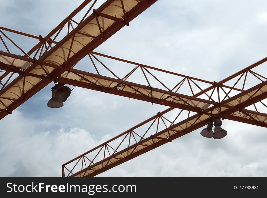
[[[44,37],[81,2],[1,0],[1,26]],[[218,82],[266,56],[266,8],[265,0],[159,0],[95,51]],[[25,49],[37,42],[14,40]],[[0,121],[0,176],[61,176],[63,163],[167,108],[75,87],[50,109],[52,86]],[[199,129],[99,176],[266,176],[266,129],[231,120],[223,128],[221,140]]]

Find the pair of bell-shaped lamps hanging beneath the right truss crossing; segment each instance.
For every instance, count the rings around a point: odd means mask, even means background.
[[[227,131],[221,128],[222,122],[219,118],[213,117],[214,122],[208,121],[207,127],[204,128],[200,134],[203,137],[208,137],[211,138],[213,137],[214,139],[221,139],[227,135]],[[212,131],[212,126],[214,124],[214,129]]]

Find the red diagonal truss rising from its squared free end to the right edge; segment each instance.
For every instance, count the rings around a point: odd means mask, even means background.
[[[120,60],[125,61],[122,59]],[[174,113],[177,114],[176,117],[171,117],[173,112],[177,111],[177,109],[174,107],[168,108],[163,112],[159,112],[157,115],[132,127],[124,133],[63,164],[62,176],[95,176],[103,171],[109,170],[112,167],[133,159],[134,157],[146,153],[149,150],[166,144],[167,142],[171,142],[178,137],[205,126],[207,121],[212,119],[212,116],[267,127],[267,114],[258,112],[256,108],[257,103],[263,104],[263,106],[266,107],[262,100],[267,97],[267,79],[261,74],[257,74],[256,72],[252,71],[253,68],[259,66],[265,61],[267,61],[267,58],[248,66],[247,68],[229,76],[228,78],[225,78],[218,83],[212,83],[194,78],[194,80],[202,81],[212,85],[196,94],[193,94],[193,97],[197,98],[201,95],[206,95],[209,91],[211,91],[210,94],[206,96],[212,101],[212,97],[216,98],[214,96],[217,95],[217,104],[207,109],[201,109],[200,111],[198,111],[199,109],[196,109],[195,107],[193,108],[193,106],[191,106],[193,110],[182,108],[181,111]],[[75,70],[73,73],[78,74],[79,72]],[[248,89],[244,89],[249,73],[255,79],[259,80],[259,84],[256,84]],[[85,74],[84,72],[82,74],[84,74],[86,77],[90,75]],[[183,75],[181,76],[185,79],[188,79],[188,82],[192,80],[191,77]],[[241,87],[237,88],[236,85],[242,79],[242,77],[244,80],[242,83],[240,83]],[[97,79],[99,78],[100,76],[98,76]],[[234,85],[231,88],[230,86],[223,85],[227,84],[233,79],[235,79],[235,81],[233,81]],[[87,84],[92,84],[92,82],[87,82]],[[190,83],[188,83],[188,85],[190,87]],[[93,89],[85,84],[78,84],[77,86]],[[225,88],[230,90],[225,91]],[[99,91],[100,89],[94,90]],[[230,97],[232,90],[239,91],[239,93]],[[224,93],[224,95],[221,93]],[[149,96],[151,97],[151,95]],[[220,98],[223,99],[220,100]],[[153,99],[157,100],[157,98]],[[245,109],[245,107],[250,105],[253,105],[256,111]],[[194,113],[194,115],[190,116],[192,113]]]

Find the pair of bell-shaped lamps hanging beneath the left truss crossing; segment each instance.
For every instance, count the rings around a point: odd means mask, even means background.
[[[70,88],[64,86],[65,84],[55,84],[54,87],[52,87],[52,98],[48,101],[46,104],[47,107],[50,108],[59,108],[63,107],[63,102],[67,100],[67,98],[70,95]]]

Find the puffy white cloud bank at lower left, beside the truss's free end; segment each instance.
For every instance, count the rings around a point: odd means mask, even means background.
[[[8,125],[12,122],[16,122],[17,127]],[[40,120],[23,119],[18,113],[2,125],[5,131],[12,133],[15,130],[16,134],[1,135],[2,176],[61,176],[61,164],[110,138],[106,134],[97,140],[94,135],[78,127],[43,131],[39,126]]]

